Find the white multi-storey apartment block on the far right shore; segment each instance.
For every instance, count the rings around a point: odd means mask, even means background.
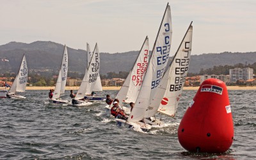
[[[230,81],[233,83],[237,80],[247,81],[253,79],[253,68],[234,68],[229,70]]]

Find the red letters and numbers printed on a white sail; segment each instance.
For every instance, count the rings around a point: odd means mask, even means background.
[[[135,82],[135,86],[141,86],[143,81],[143,76],[148,67],[148,50],[144,50],[143,63],[137,63],[136,74],[132,75],[132,81]]]

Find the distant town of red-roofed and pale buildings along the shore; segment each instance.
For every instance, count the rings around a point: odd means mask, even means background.
[[[106,75],[100,75],[102,86],[122,86],[127,77],[128,72],[109,72]],[[15,73],[7,75],[2,74],[0,77],[0,86],[4,86],[7,82],[12,86]],[[73,73],[72,77],[68,77],[67,86],[80,86],[82,79],[79,74]],[[188,74],[193,75],[193,74]],[[28,86],[54,86],[58,76],[41,76],[40,74],[31,74],[28,77]],[[204,74],[187,76],[184,86],[200,86],[205,79],[216,78],[225,82],[227,86],[256,86],[256,76],[253,74],[253,68],[233,68],[229,69],[228,75]]]

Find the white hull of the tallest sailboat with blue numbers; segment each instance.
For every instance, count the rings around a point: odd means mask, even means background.
[[[145,124],[143,122],[127,122],[126,120],[122,120],[122,119],[118,119],[118,118],[116,118],[116,124],[118,126],[124,125],[125,127],[129,128],[129,129],[133,129],[133,130],[135,130],[134,128],[136,128],[136,127],[140,127],[140,129],[143,132],[148,132],[151,129],[150,125]]]

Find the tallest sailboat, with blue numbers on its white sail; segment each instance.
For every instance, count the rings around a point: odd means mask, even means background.
[[[150,129],[150,125],[141,122],[145,114],[150,111],[148,108],[151,97],[154,97],[157,87],[163,77],[164,70],[168,63],[170,46],[172,40],[172,19],[169,4],[166,6],[164,16],[157,33],[156,41],[152,49],[152,57],[142,82],[140,93],[134,104],[134,108],[127,121],[116,119],[118,124],[139,125],[143,130]]]

